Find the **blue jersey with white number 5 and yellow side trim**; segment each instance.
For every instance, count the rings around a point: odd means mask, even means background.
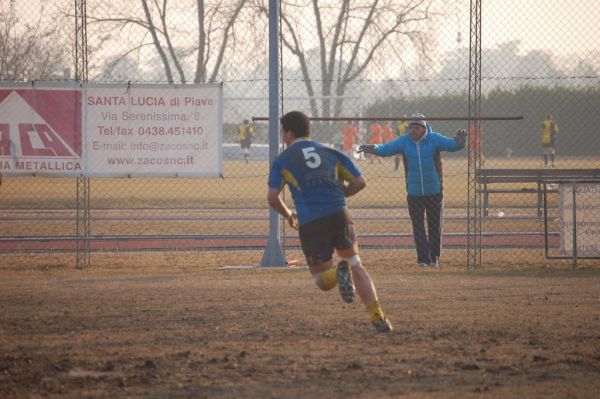
[[[346,155],[316,141],[297,139],[273,161],[269,187],[288,185],[298,223],[303,225],[344,210],[342,180],[358,176],[360,171]]]

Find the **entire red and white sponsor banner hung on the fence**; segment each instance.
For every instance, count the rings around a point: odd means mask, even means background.
[[[0,86],[0,172],[220,176],[221,85]]]

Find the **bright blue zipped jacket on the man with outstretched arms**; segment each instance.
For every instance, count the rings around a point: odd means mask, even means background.
[[[375,154],[381,157],[403,154],[407,165],[406,190],[408,195],[434,195],[441,191],[440,176],[435,167],[434,156],[437,151],[456,152],[464,148],[455,139],[431,130],[414,141],[410,133],[398,137],[386,144],[377,144]]]

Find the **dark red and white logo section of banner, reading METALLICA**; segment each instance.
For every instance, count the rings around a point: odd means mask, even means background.
[[[81,95],[76,85],[0,86],[0,173],[83,174]]]

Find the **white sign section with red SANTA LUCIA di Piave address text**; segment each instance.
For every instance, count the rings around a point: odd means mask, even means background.
[[[222,174],[220,85],[88,85],[90,176]]]

